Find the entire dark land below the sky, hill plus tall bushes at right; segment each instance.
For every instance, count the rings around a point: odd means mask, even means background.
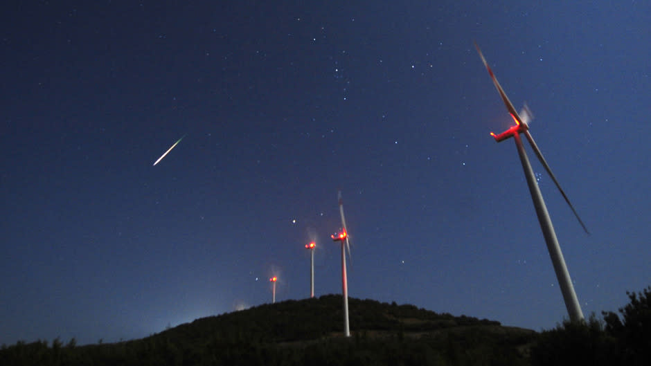
[[[74,338],[3,345],[0,365],[648,365],[651,287],[603,320],[536,333],[413,305],[341,295],[265,304],[197,319],[140,340]],[[643,362],[643,361],[647,362]]]

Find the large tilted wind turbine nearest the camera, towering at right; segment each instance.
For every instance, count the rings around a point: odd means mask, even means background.
[[[513,104],[510,102],[510,100],[508,100],[508,97],[506,96],[506,93],[504,93],[502,87],[499,85],[499,82],[497,82],[497,78],[490,69],[490,66],[488,66],[488,62],[486,62],[486,59],[483,57],[479,46],[476,43],[474,46],[479,53],[479,57],[481,57],[481,61],[483,62],[484,66],[486,66],[486,70],[488,70],[488,74],[492,78],[493,84],[497,88],[499,95],[506,105],[508,113],[510,113],[513,120],[515,120],[515,126],[510,127],[506,131],[503,131],[501,134],[493,134],[492,132],[490,134],[498,143],[511,137],[515,140],[517,152],[520,156],[520,162],[522,163],[522,169],[524,170],[524,176],[526,177],[531,199],[533,200],[533,206],[535,207],[538,221],[540,223],[540,228],[542,229],[542,235],[544,236],[545,242],[547,244],[547,250],[549,251],[549,256],[551,257],[551,262],[554,266],[558,284],[560,284],[560,290],[565,301],[565,307],[567,308],[567,312],[569,313],[569,317],[572,322],[584,320],[583,312],[581,311],[581,306],[579,305],[578,299],[576,297],[576,292],[574,291],[574,286],[570,279],[569,271],[567,271],[567,266],[565,265],[563,253],[560,250],[560,244],[558,244],[558,239],[556,238],[556,232],[554,231],[554,227],[551,223],[551,218],[549,217],[549,212],[547,212],[545,202],[542,199],[542,193],[540,192],[540,188],[538,187],[535,175],[533,174],[533,169],[529,163],[529,158],[527,157],[526,151],[524,150],[524,145],[522,144],[520,134],[524,134],[524,136],[526,136],[529,144],[531,145],[531,148],[538,157],[538,160],[545,167],[545,170],[549,176],[551,176],[551,179],[554,181],[556,187],[558,187],[558,190],[565,199],[565,202],[567,202],[571,208],[574,216],[576,216],[576,219],[578,219],[579,223],[583,227],[583,230],[585,230],[588,235],[590,233],[585,227],[583,221],[581,221],[579,215],[576,213],[576,210],[574,210],[574,207],[567,198],[567,195],[565,195],[565,192],[563,192],[562,188],[560,187],[560,183],[558,183],[556,177],[551,172],[551,168],[545,161],[545,158],[542,156],[542,152],[540,152],[538,145],[536,145],[533,137],[529,133],[529,126],[527,123],[531,115],[528,111],[528,108],[525,105],[525,109],[522,113],[524,118],[521,118],[517,111],[515,111]]]

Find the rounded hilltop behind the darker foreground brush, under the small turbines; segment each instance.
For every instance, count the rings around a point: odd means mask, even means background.
[[[349,299],[349,310],[350,329],[353,333],[431,332],[453,327],[500,325],[499,322],[464,315],[454,317],[438,314],[413,305],[386,304],[355,298]],[[157,336],[196,339],[220,334],[224,338],[237,336],[260,342],[313,340],[342,336],[343,317],[341,295],[323,295],[321,298],[287,300],[201,318],[163,331]]]

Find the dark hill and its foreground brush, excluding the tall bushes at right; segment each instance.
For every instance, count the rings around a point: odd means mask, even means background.
[[[55,340],[0,350],[1,365],[528,365],[537,333],[413,305],[341,295],[263,304],[140,340],[78,347]]]

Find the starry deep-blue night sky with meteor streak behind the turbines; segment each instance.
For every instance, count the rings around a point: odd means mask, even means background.
[[[644,1],[10,1],[0,344],[148,336],[341,293],[540,330],[567,318],[473,41],[586,316],[651,284]],[[186,137],[155,166],[154,161]],[[355,324],[351,324],[355,332]]]

